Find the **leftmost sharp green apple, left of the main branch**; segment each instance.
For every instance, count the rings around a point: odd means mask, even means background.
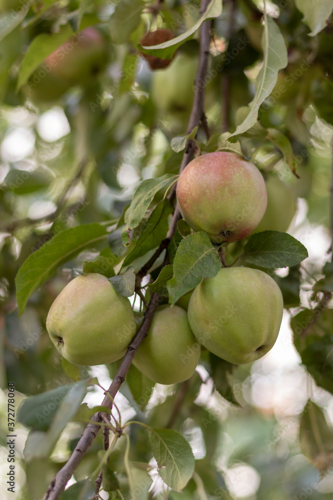
[[[77,276],[59,293],[48,312],[46,328],[68,361],[95,365],[125,354],[136,323],[128,298],[102,274],[89,273]]]

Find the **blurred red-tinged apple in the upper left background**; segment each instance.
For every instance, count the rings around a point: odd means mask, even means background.
[[[30,76],[25,92],[35,101],[57,99],[73,85],[89,85],[106,62],[101,33],[88,27],[46,57]]]

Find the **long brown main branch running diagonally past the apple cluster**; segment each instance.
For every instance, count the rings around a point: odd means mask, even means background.
[[[208,5],[208,0],[203,0],[202,10],[205,11]],[[200,119],[204,112],[204,95],[205,95],[205,85],[202,85],[201,82],[204,81],[204,78],[207,73],[208,68],[208,58],[209,58],[209,41],[210,41],[210,26],[211,21],[207,20],[203,22],[200,28],[200,56],[199,56],[199,67],[196,77],[196,88],[192,106],[192,112],[189,119],[189,125],[187,128],[187,133],[189,134],[193,128],[200,123]],[[185,168],[185,166],[191,161],[194,156],[194,152],[196,150],[196,144],[193,140],[188,141],[187,147],[184,151],[183,160],[180,167],[180,172]],[[169,193],[168,199],[173,199],[175,195],[175,186]],[[176,205],[173,219],[167,234],[167,239],[171,239],[174,235],[177,227],[177,222],[180,220],[181,214],[179,212],[178,206]],[[156,253],[156,252],[155,252]],[[156,257],[157,258],[157,257]],[[163,266],[169,262],[169,255],[166,254],[163,262]],[[117,394],[121,384],[125,380],[126,374],[130,367],[130,364],[133,360],[135,352],[137,351],[141,341],[147,335],[150,323],[153,319],[154,312],[158,304],[161,302],[162,297],[153,293],[148,307],[145,311],[145,315],[143,317],[143,321],[134,336],[132,342],[127,348],[126,354],[124,355],[119,369],[117,371],[116,376],[111,382],[110,387],[106,391],[102,406],[106,406],[107,408],[112,408],[112,401]],[[47,492],[44,496],[44,500],[57,500],[63,491],[67,481],[72,476],[72,473],[80,463],[87,449],[93,443],[94,438],[97,435],[98,430],[100,429],[102,422],[102,415],[100,412],[93,415],[92,420],[96,422],[96,424],[89,423],[87,427],[84,429],[80,440],[78,441],[73,453],[68,459],[67,463],[57,472],[56,476],[50,483]]]

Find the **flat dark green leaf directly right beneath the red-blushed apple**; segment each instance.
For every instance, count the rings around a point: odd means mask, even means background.
[[[296,265],[308,257],[306,247],[286,232],[263,231],[253,234],[241,259],[266,269]]]

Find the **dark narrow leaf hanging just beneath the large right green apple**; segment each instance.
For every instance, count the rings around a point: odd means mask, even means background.
[[[233,392],[233,369],[234,364],[221,359],[212,352],[209,353],[211,373],[216,390],[227,401],[240,406]]]

